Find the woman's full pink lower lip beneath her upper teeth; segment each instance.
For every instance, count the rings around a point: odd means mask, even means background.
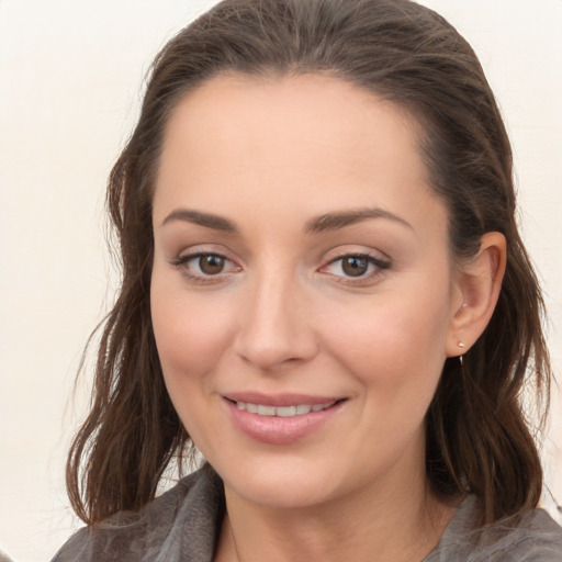
[[[225,398],[235,426],[247,437],[271,445],[289,445],[317,431],[337,412],[342,402],[322,412],[311,412],[301,416],[259,416],[246,409],[239,409],[235,403]]]

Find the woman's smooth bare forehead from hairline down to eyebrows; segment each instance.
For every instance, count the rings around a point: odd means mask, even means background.
[[[442,207],[426,176],[417,123],[381,97],[326,76],[220,76],[170,115],[155,214],[251,200],[303,216],[372,205],[415,215]]]

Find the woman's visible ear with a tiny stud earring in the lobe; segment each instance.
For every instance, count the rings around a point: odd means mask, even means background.
[[[476,257],[459,267],[452,291],[447,357],[465,353],[484,331],[502,290],[506,259],[504,235],[486,233]]]

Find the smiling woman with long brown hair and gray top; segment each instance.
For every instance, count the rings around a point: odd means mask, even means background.
[[[68,463],[88,527],[56,561],[561,559],[509,143],[440,16],[220,3],[158,55],[109,205],[123,284]]]

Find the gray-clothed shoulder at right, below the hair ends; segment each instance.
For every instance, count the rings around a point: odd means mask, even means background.
[[[547,512],[529,512],[515,527],[474,530],[477,513],[477,499],[467,498],[424,562],[562,562],[562,527]]]

